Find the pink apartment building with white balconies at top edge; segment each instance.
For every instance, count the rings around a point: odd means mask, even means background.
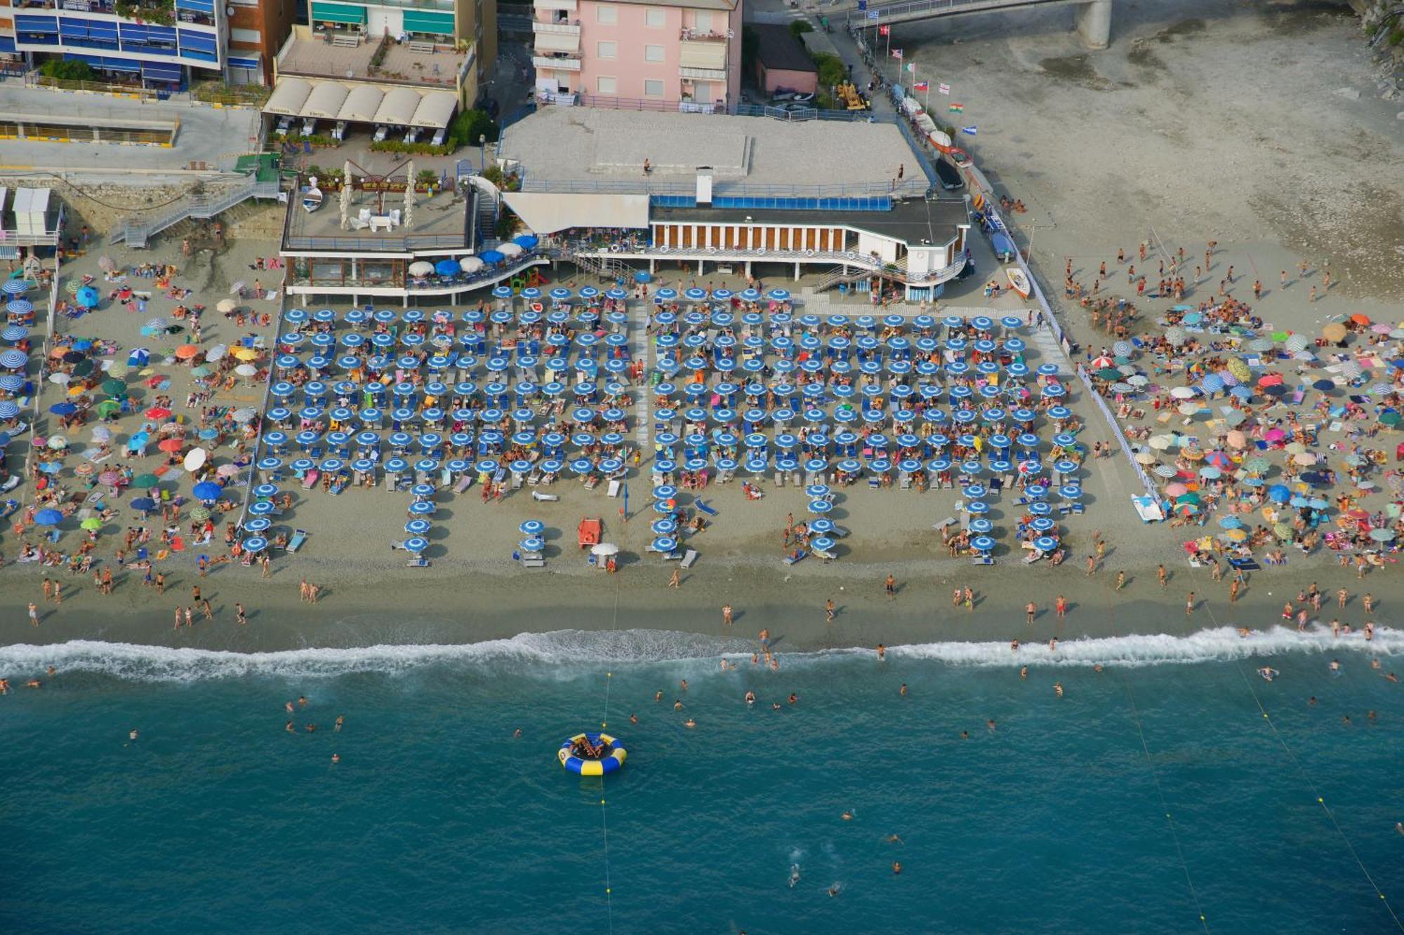
[[[730,111],[741,94],[741,0],[534,0],[542,100]]]

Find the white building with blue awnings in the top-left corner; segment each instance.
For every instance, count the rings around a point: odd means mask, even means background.
[[[178,90],[225,69],[226,4],[215,0],[0,0],[14,49],[86,62],[104,81]],[[3,48],[3,46],[0,46]]]

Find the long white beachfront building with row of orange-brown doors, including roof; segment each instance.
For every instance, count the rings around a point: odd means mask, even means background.
[[[966,202],[934,195],[893,124],[549,107],[498,154],[521,178],[504,205],[597,272],[810,272],[920,300],[966,265]]]

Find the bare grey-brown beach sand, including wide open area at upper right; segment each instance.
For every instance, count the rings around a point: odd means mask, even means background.
[[[910,58],[918,67],[925,63],[934,69],[928,73],[939,72],[941,80],[949,76],[966,105],[963,119],[979,124],[979,136],[966,145],[983,171],[1029,205],[1026,215],[1014,218],[1021,243],[1032,246],[1035,270],[1074,337],[1091,343],[1098,336],[1085,326],[1082,309],[1074,303],[1063,307],[1056,299],[1061,295],[1057,285],[1064,260],[1073,258],[1078,277],[1085,278],[1098,263],[1112,260],[1118,248],[1133,251],[1140,241],[1153,244],[1153,256],[1164,256],[1178,246],[1188,246],[1191,253],[1203,250],[1205,241],[1217,239],[1216,270],[1228,264],[1248,271],[1296,270],[1302,258],[1311,264],[1330,260],[1338,285],[1323,289],[1316,303],[1304,300],[1306,284],[1279,289],[1275,272],[1262,274],[1271,282],[1262,313],[1283,326],[1314,330],[1331,316],[1358,309],[1397,314],[1390,302],[1400,295],[1401,267],[1397,257],[1390,261],[1390,250],[1400,240],[1398,178],[1377,170],[1404,159],[1398,133],[1389,132],[1394,131],[1393,111],[1386,114],[1386,104],[1369,93],[1359,100],[1332,94],[1342,86],[1365,87],[1369,74],[1363,44],[1351,28],[1353,21],[1316,7],[1264,7],[1214,15],[1209,29],[1205,17],[1212,11],[1212,4],[1193,10],[1126,4],[1118,8],[1112,49],[1098,53],[1077,49],[1075,37],[1064,31],[1066,11],[1019,14],[1016,31],[1009,28],[1012,15],[904,29],[911,34]],[[1244,45],[1248,34],[1254,41]],[[1304,44],[1303,37],[1311,42]],[[1285,58],[1289,46],[1297,58]],[[1240,53],[1226,56],[1228,48]],[[1303,63],[1303,55],[1313,56],[1313,62]],[[1231,60],[1226,63],[1226,58]],[[994,60],[1002,63],[1011,80],[987,79]],[[1182,74],[1195,74],[1196,80]],[[1317,121],[1311,135],[1294,129],[1300,119],[1296,104],[1302,101]],[[1102,114],[1111,133],[1097,145],[1070,132],[1090,112]],[[1206,128],[1254,129],[1237,135],[1191,132],[1182,126],[1189,114]],[[1170,132],[1171,124],[1181,129]],[[1327,128],[1328,136],[1355,138],[1358,152],[1351,171],[1337,171],[1324,161],[1320,128]],[[1296,190],[1303,191],[1303,198],[1289,211],[1280,194]],[[1111,204],[1120,209],[1108,211]],[[1309,206],[1316,208],[1302,213]],[[1352,206],[1375,213],[1356,213],[1351,223],[1338,223],[1356,211]],[[181,264],[178,247],[178,239],[167,237],[153,251],[118,248],[114,257],[125,264],[150,258]],[[188,272],[198,275],[201,298],[212,303],[232,281],[258,275],[247,270],[249,263],[275,251],[272,241],[236,237],[218,254],[197,253]],[[66,272],[94,271],[101,253],[95,244]],[[984,268],[990,268],[988,263]],[[271,286],[271,278],[265,277],[264,288]],[[587,281],[563,278],[576,286]],[[833,296],[806,295],[803,289],[797,295],[807,309],[821,314],[855,310]],[[1026,309],[1014,296],[983,299],[979,281],[962,284],[941,307],[1019,314]],[[104,334],[124,324],[131,321],[105,312],[86,319],[77,330],[131,343],[131,334]],[[206,343],[219,338],[218,327],[206,330]],[[1064,358],[1061,365],[1067,364]],[[1068,387],[1068,406],[1085,421],[1080,442],[1090,446],[1111,441],[1109,427],[1082,399],[1081,386],[1070,380]],[[251,390],[247,400],[226,402],[254,403],[256,396]],[[1384,619],[1393,599],[1404,599],[1394,570],[1372,571],[1365,581],[1356,581],[1352,570],[1337,567],[1334,556],[1327,555],[1293,556],[1285,569],[1254,573],[1241,599],[1230,605],[1227,578],[1214,583],[1206,570],[1186,567],[1181,548],[1186,533],[1139,522],[1129,497],[1141,491],[1140,484],[1120,455],[1087,460],[1082,475],[1088,508],[1085,515],[1060,521],[1070,557],[1059,569],[1046,562],[1024,567],[1018,555],[1008,552],[994,567],[972,567],[969,559],[948,557],[932,526],[956,515],[958,491],[915,494],[863,486],[841,491],[830,514],[851,529],[841,541],[841,560],[786,567],[779,560],[782,529],[786,514],[802,514],[803,498],[772,490],[765,500],[747,503],[739,484],[716,487],[709,494],[720,515],[708,532],[689,542],[702,556],[682,574],[678,590],[665,587],[673,566],[646,552],[651,541],[646,470],[635,477],[629,522],[619,515],[619,500],[570,480],[553,489],[559,503],[534,503],[526,491],[514,491],[501,504],[483,504],[476,489],[453,497],[439,510],[427,552],[432,564],[427,569],[406,569],[403,553],[389,550],[392,541],[403,539],[403,497],[386,497],[383,490],[352,490],[341,497],[299,491],[291,522],[310,531],[307,545],[296,556],[278,557],[267,580],[257,569],[215,569],[201,581],[216,608],[213,623],[198,622],[192,630],[178,633],[171,628],[173,608],[188,602],[197,583],[188,563],[171,567],[166,595],[143,588],[139,574],[126,573],[125,580],[118,576],[111,597],[66,571],[10,566],[0,570],[0,601],[6,608],[0,640],[101,639],[270,650],[458,643],[570,628],[722,635],[720,608],[730,604],[736,608],[737,636],[748,639],[767,626],[783,633],[789,646],[816,649],[1105,636],[1118,632],[1111,615],[1098,612],[1109,602],[1134,609],[1118,618],[1134,621],[1137,632],[1266,626],[1276,621],[1282,602],[1313,580],[1330,594],[1338,587],[1352,594],[1372,590]],[[997,503],[991,518],[1012,519],[1012,510]],[[621,546],[618,574],[605,576],[585,566],[574,542],[583,517],[601,517],[605,539]],[[541,570],[521,569],[511,560],[518,525],[526,518],[546,524],[548,567]],[[118,524],[126,525],[121,518]],[[1098,533],[1106,542],[1106,557],[1098,574],[1088,578],[1084,556],[1092,552]],[[110,548],[108,539],[104,552]],[[1155,584],[1160,564],[1171,574],[1165,590]],[[1118,571],[1127,576],[1122,592],[1113,591]],[[41,598],[39,578],[45,573],[65,577],[65,601],[62,608],[44,608],[42,625],[35,629],[28,626],[24,608]],[[900,585],[894,599],[883,595],[887,574]],[[323,587],[316,606],[295,604],[303,577]],[[952,588],[967,585],[977,595],[974,609],[953,608]],[[1184,611],[1189,591],[1199,601],[1207,599],[1192,616]],[[1052,612],[1059,594],[1071,605],[1066,619]],[[823,612],[830,598],[838,606],[831,626]],[[1029,599],[1042,608],[1033,626],[1024,622]],[[250,608],[247,628],[233,623],[234,602]],[[1330,609],[1323,612],[1323,621],[1330,621]],[[1355,598],[1341,612],[1342,622],[1352,626],[1363,623],[1365,616]]]

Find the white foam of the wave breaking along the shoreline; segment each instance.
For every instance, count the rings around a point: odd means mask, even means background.
[[[334,677],[348,672],[404,672],[424,665],[522,664],[522,665],[626,665],[705,660],[710,668],[720,656],[750,654],[740,640],[670,630],[556,630],[521,633],[511,639],[463,644],[379,644],[351,649],[298,649],[272,653],[233,653],[204,649],[171,649],[133,643],[72,640],[51,646],[20,643],[0,647],[0,675],[20,675],[55,665],[63,671],[104,672],[133,681],[198,681],[274,675],[288,678]],[[1380,628],[1375,640],[1359,632],[1332,637],[1328,629],[1307,633],[1275,626],[1238,636],[1231,628],[1198,630],[1188,636],[1129,635],[1064,640],[1050,651],[1046,643],[1025,643],[1011,651],[1005,642],[948,642],[893,646],[896,658],[922,658],[952,665],[1000,668],[1038,663],[1046,665],[1167,665],[1233,661],[1285,653],[1404,654],[1404,630]],[[849,656],[872,656],[869,649],[781,653],[786,665],[835,664]]]

